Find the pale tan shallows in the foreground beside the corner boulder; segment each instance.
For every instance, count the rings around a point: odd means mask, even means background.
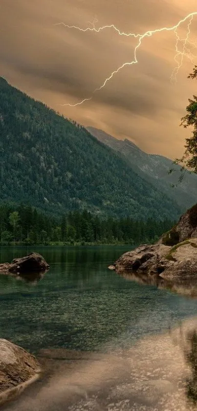
[[[197,392],[197,319],[117,356],[42,350],[43,378],[7,411],[190,411]],[[188,339],[189,333],[190,338]],[[190,359],[190,360],[188,360]]]

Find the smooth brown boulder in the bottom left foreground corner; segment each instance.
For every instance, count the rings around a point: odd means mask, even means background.
[[[40,364],[23,348],[0,339],[0,404],[19,394],[41,373]]]

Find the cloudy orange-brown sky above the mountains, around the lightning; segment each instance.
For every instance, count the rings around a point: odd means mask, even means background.
[[[96,15],[97,26],[143,33],[174,26],[195,11],[197,0],[0,0],[0,75],[85,126],[129,138],[148,153],[179,157],[189,135],[179,127],[180,118],[197,86],[187,78],[193,64],[186,58],[177,83],[170,82],[175,33],[145,38],[138,64],[125,67],[91,101],[69,107],[61,104],[90,97],[113,70],[131,61],[136,40],[112,29],[84,33],[55,24],[86,28]],[[187,23],[178,31],[181,36]],[[192,40],[196,27],[194,17]]]

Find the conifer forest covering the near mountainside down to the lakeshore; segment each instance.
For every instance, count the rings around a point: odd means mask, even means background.
[[[151,242],[182,211],[84,127],[0,77],[0,245]]]

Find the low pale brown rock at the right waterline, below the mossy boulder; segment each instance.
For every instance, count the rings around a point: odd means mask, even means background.
[[[142,245],[123,254],[110,269],[157,275],[167,280],[197,276],[197,238],[173,247],[161,243]]]

